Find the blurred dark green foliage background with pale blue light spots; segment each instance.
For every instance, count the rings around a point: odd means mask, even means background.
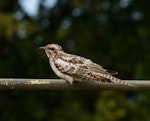
[[[60,44],[119,72],[150,79],[149,0],[0,0],[0,78],[58,78],[38,49]],[[0,121],[149,121],[150,93],[0,91]]]

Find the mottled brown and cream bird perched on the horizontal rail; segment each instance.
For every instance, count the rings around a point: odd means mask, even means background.
[[[50,66],[55,74],[71,85],[74,81],[89,80],[133,86],[127,81],[114,77],[113,75],[116,75],[117,72],[104,69],[90,59],[66,53],[58,44],[48,44],[39,47],[39,49],[45,50]]]

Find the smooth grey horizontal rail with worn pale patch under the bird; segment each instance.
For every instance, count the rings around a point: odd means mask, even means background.
[[[135,87],[120,83],[92,81],[74,82],[73,85],[62,79],[15,79],[1,78],[0,90],[150,90],[150,80],[124,80]]]

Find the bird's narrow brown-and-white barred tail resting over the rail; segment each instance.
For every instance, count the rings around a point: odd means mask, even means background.
[[[112,75],[109,75],[109,74],[100,74],[100,76],[106,78],[106,79],[109,79],[110,81],[114,82],[114,83],[121,83],[121,84],[124,84],[124,85],[127,85],[127,86],[132,86],[134,87],[135,85],[131,84],[131,83],[128,83],[126,81],[123,81],[121,79],[118,79]]]

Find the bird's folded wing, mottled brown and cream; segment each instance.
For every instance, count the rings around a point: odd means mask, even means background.
[[[99,76],[99,74],[111,74],[100,65],[93,63],[90,59],[68,54],[57,58],[55,65],[59,71],[73,77],[110,82]]]

